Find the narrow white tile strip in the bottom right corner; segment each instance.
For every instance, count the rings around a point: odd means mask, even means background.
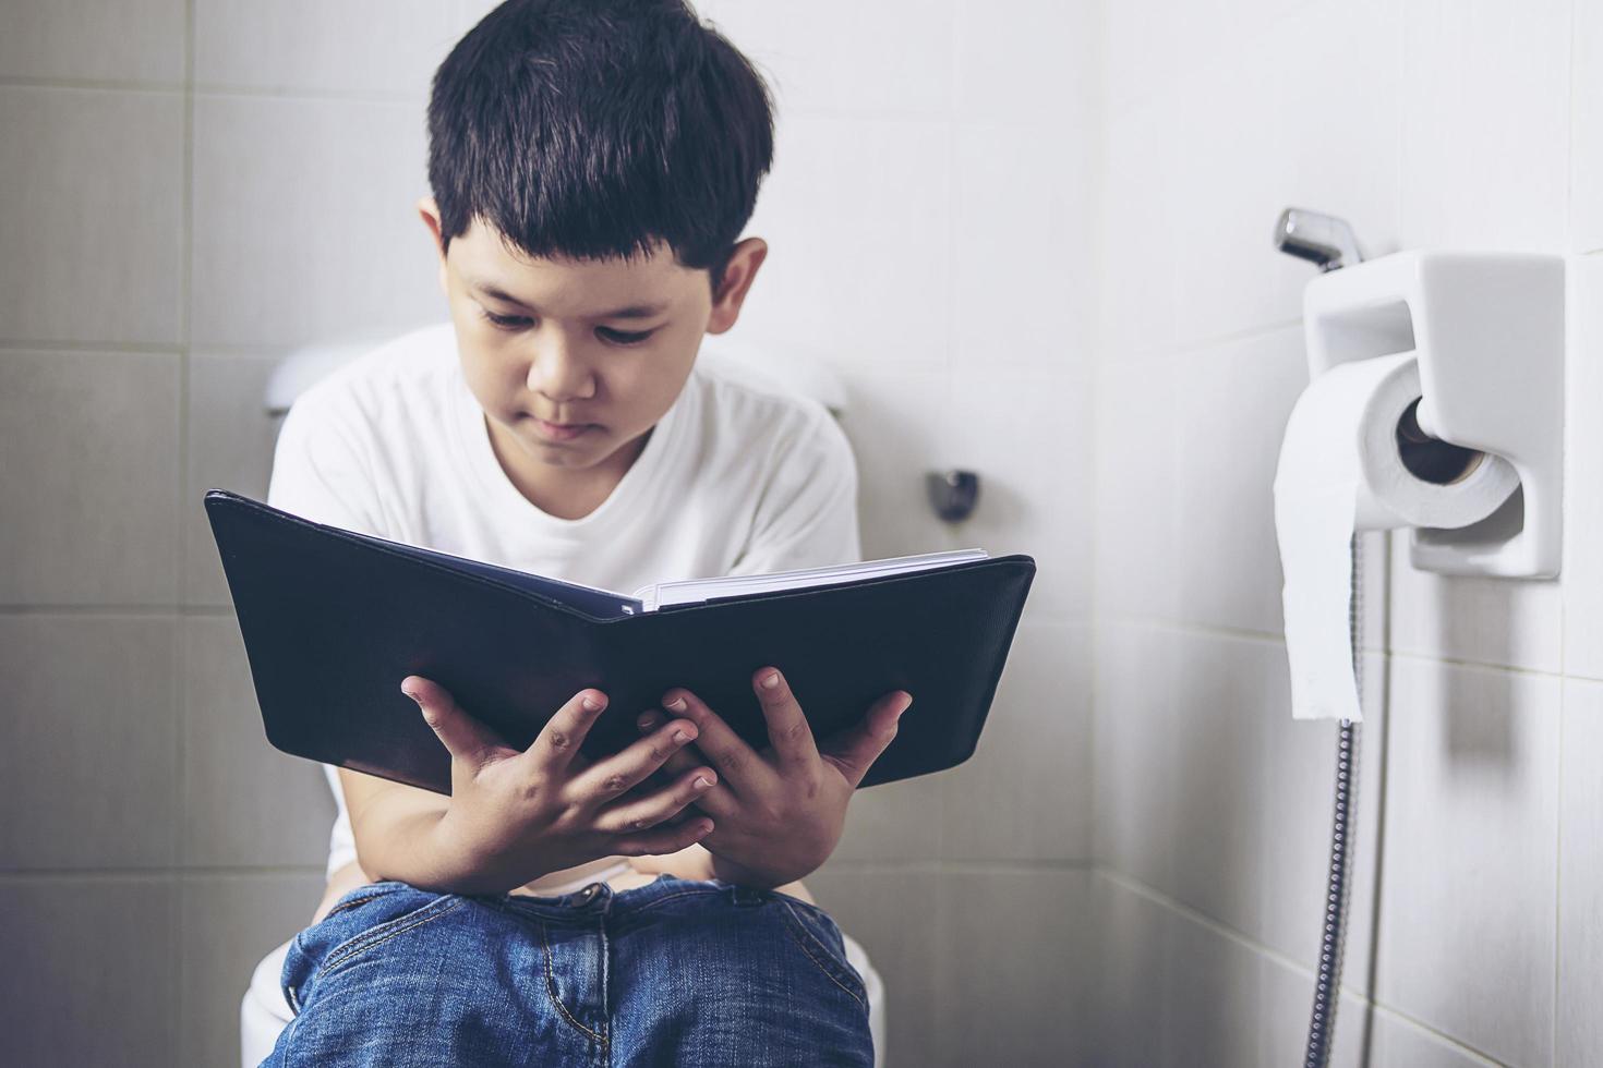
[[[1603,1062],[1603,685],[1565,682],[1555,1063]]]

